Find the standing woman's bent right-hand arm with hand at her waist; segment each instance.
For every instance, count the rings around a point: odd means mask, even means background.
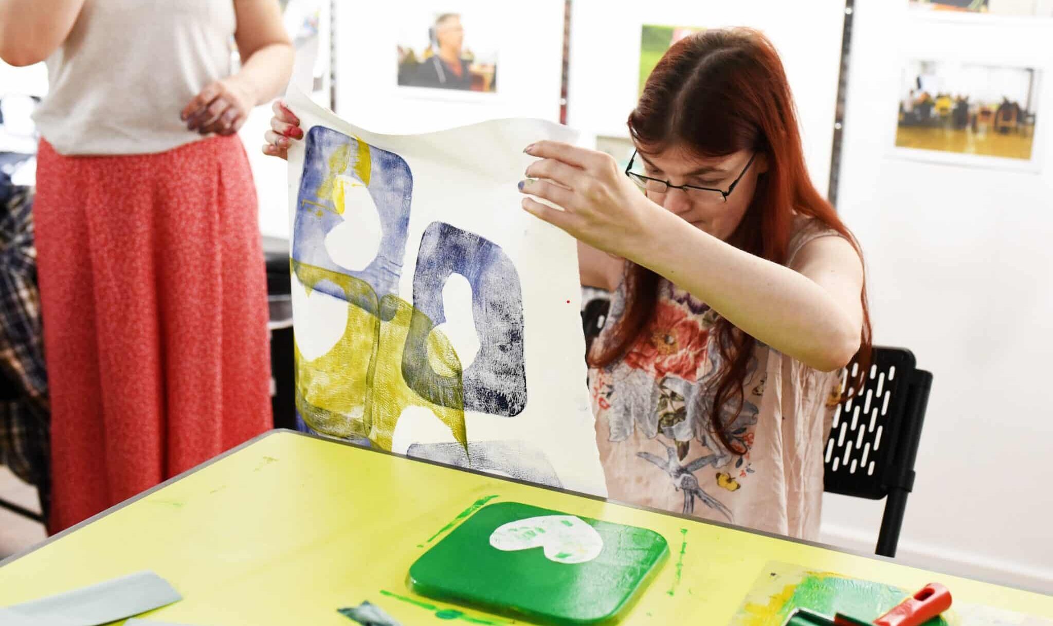
[[[249,112],[280,94],[293,73],[295,52],[278,1],[234,0],[234,8],[241,70],[206,86],[183,109],[187,127],[202,135],[237,133]]]

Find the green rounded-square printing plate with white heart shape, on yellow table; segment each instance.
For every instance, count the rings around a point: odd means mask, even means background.
[[[518,502],[479,509],[410,568],[415,592],[548,624],[614,621],[669,557],[652,530]]]

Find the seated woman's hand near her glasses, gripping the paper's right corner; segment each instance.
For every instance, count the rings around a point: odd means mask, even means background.
[[[565,143],[540,141],[524,150],[540,161],[526,168],[523,208],[605,253],[634,259],[649,245],[647,233],[662,208],[640,193],[610,155]]]

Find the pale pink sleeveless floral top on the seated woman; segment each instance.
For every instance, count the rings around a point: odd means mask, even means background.
[[[799,219],[787,264],[808,242],[839,237]],[[596,341],[624,309],[618,288]],[[609,497],[779,534],[815,539],[823,446],[840,398],[841,372],[824,373],[757,343],[742,408],[715,432],[720,354],[717,314],[662,279],[651,322],[621,360],[589,371],[596,441]],[[727,423],[738,405],[721,407]],[[741,453],[739,453],[741,452]]]

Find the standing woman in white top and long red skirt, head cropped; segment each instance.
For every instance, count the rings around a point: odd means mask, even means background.
[[[46,59],[51,84],[35,217],[55,532],[271,427],[236,133],[293,48],[277,0],[0,0],[0,57]]]

